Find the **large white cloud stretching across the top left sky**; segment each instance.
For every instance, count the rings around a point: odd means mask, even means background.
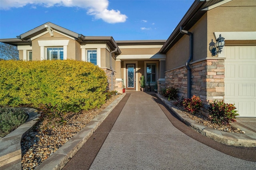
[[[107,23],[125,22],[128,18],[119,10],[108,10],[108,0],[1,0],[0,9],[21,8],[28,4],[46,8],[52,6],[84,8],[88,15],[94,16],[95,19],[102,19]]]

